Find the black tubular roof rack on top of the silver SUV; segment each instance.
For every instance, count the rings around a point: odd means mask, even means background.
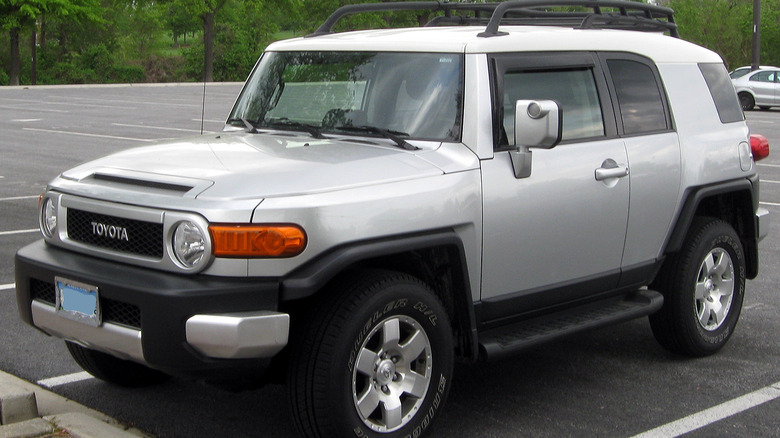
[[[555,7],[576,7],[578,11],[554,11]],[[609,9],[609,10],[604,10]],[[622,29],[653,32],[669,32],[675,38],[677,24],[674,11],[647,3],[621,0],[513,0],[502,3],[453,3],[442,1],[408,1],[364,3],[342,6],[337,9],[312,34],[316,37],[333,33],[336,23],[348,16],[366,12],[417,11],[443,12],[426,26],[483,25],[480,37],[506,35],[499,25],[567,26],[580,29]],[[453,12],[471,13],[473,16],[453,15]]]

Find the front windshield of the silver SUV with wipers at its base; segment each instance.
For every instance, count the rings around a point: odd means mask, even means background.
[[[459,54],[267,52],[228,123],[459,141],[462,77]]]

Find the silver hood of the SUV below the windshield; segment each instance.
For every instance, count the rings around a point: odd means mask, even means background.
[[[442,173],[417,154],[379,141],[226,132],[119,152],[75,167],[62,178],[173,191],[203,200],[241,200]]]

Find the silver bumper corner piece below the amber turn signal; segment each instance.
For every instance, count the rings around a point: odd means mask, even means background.
[[[219,359],[271,357],[285,345],[290,315],[270,311],[195,315],[187,320],[187,343]]]

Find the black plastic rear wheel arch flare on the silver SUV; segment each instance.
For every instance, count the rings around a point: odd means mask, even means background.
[[[664,255],[682,248],[696,217],[709,216],[729,223],[737,232],[745,250],[747,278],[758,275],[758,238],[755,211],[758,204],[758,180],[741,179],[688,190]]]

